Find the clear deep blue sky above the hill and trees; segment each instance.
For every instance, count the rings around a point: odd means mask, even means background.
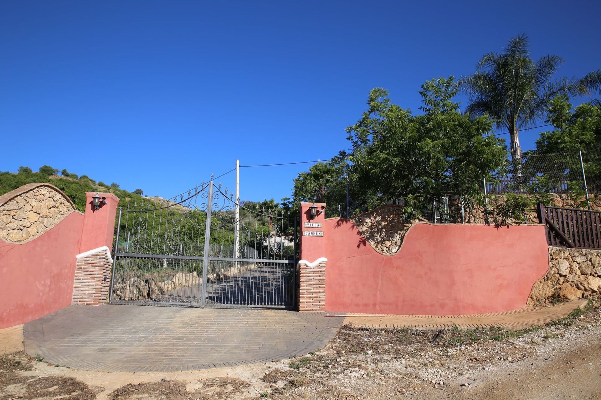
[[[498,8],[497,8],[498,7]],[[561,74],[601,68],[601,2],[0,3],[0,170],[43,164],[171,196],[242,165],[326,159],[371,88],[414,112],[526,32]],[[522,133],[531,148],[537,130]],[[290,195],[307,165],[241,171],[242,199]],[[233,189],[234,175],[222,182]]]

